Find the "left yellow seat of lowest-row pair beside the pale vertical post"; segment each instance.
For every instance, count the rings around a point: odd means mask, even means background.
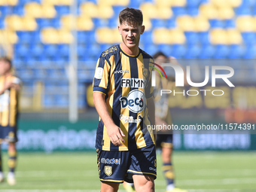
[[[44,44],[58,44],[59,33],[54,28],[46,28],[41,30],[41,41]]]

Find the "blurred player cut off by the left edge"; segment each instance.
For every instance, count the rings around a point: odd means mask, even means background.
[[[11,60],[0,58],[0,143],[8,142],[8,184],[16,184],[14,169],[17,160],[17,106],[20,79],[12,75]],[[0,148],[1,152],[1,148]],[[4,180],[0,153],[0,182]]]

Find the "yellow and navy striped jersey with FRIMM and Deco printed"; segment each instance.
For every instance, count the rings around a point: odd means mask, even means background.
[[[137,56],[125,53],[120,45],[105,50],[99,57],[93,79],[93,92],[105,94],[108,112],[125,137],[122,146],[111,143],[99,118],[96,148],[104,151],[128,151],[154,145],[154,135],[147,126],[147,99],[153,96],[152,57],[139,49]]]

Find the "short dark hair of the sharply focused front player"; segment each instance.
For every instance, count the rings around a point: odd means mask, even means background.
[[[119,13],[119,23],[120,25],[127,23],[129,26],[142,26],[142,11],[135,8],[124,8]]]

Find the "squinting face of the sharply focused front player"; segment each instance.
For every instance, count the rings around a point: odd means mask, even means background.
[[[145,30],[145,26],[129,26],[127,23],[123,23],[118,26],[120,35],[122,35],[123,44],[129,49],[139,47],[140,35]]]

